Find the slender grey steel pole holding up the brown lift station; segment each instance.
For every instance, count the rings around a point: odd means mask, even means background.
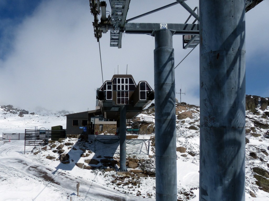
[[[126,172],[126,107],[121,106],[120,107],[120,137],[119,137],[119,143],[120,143],[120,171]]]

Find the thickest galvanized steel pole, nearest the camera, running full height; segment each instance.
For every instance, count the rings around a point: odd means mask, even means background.
[[[200,201],[245,200],[245,1],[200,0]]]

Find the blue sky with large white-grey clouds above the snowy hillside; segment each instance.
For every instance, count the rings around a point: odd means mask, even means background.
[[[132,0],[127,19],[172,2]],[[199,6],[198,0],[186,3]],[[262,97],[269,97],[268,9],[265,0],[246,13],[246,94]],[[188,16],[175,5],[132,22],[184,23]],[[102,73],[92,22],[88,0],[1,0],[0,104],[29,112],[95,109]],[[128,65],[136,83],[147,81],[154,89],[154,37],[124,34],[121,49],[109,47],[109,39],[109,32],[100,39],[104,81],[118,73],[118,65],[126,74]],[[182,49],[180,35],[173,36],[173,47],[177,65],[191,49]],[[181,100],[199,105],[199,47],[175,69],[175,79],[176,92],[185,92]]]

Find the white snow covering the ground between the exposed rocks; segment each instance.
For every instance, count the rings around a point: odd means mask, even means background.
[[[193,111],[193,118],[186,118],[184,122],[177,120],[177,147],[185,147],[186,153],[177,152],[177,181],[178,198],[187,200],[199,200],[199,107],[188,107],[187,111]],[[267,108],[266,111],[269,111]],[[182,111],[184,112],[184,110]],[[198,112],[198,113],[197,113]],[[264,111],[259,111],[261,114]],[[268,123],[268,118],[262,118],[262,115],[254,115],[247,112],[246,128],[255,127],[251,120],[257,120],[262,123]],[[140,114],[139,116],[153,117],[154,114]],[[62,114],[43,113],[42,115],[26,115],[19,117],[18,114],[12,114],[0,108],[0,137],[4,133],[24,133],[24,129],[35,129],[35,127],[45,127],[62,125],[66,127],[66,116]],[[194,125],[198,130],[190,130],[188,127]],[[181,127],[182,126],[182,127]],[[180,129],[187,131],[182,135]],[[253,159],[249,152],[256,152],[259,158],[268,161],[268,156],[261,153],[260,149],[266,149],[269,146],[269,139],[264,138],[263,134],[268,129],[256,128],[256,133],[261,134],[254,137],[247,134],[250,143],[246,144],[246,201],[265,201],[269,199],[269,193],[260,190],[253,177],[253,167],[262,167],[268,170],[267,163],[259,159]],[[181,133],[181,134],[180,134]],[[141,135],[139,139],[150,139],[151,135]],[[260,141],[259,141],[260,140]],[[73,143],[73,145],[64,146],[64,154],[70,156],[70,163],[63,164],[59,160],[59,154],[56,147],[63,143]],[[112,184],[112,176],[115,171],[87,170],[81,169],[75,163],[83,163],[86,159],[98,159],[99,156],[119,156],[119,142],[115,144],[102,144],[98,141],[89,140],[89,142],[80,141],[77,138],[67,138],[63,142],[55,142],[56,147],[50,148],[51,144],[45,146],[26,146],[24,154],[24,141],[12,140],[0,141],[0,200],[2,201],[46,201],[46,200],[155,200],[155,178],[140,177],[140,184],[137,186]],[[148,159],[147,143],[143,141],[129,141],[127,144],[127,158]],[[74,149],[75,148],[75,149]],[[80,148],[85,148],[83,152]],[[150,146],[149,155],[154,156],[154,149]],[[34,155],[35,152],[40,151]],[[267,150],[268,151],[268,150]],[[194,156],[190,155],[192,153]],[[269,151],[268,151],[269,152]],[[81,154],[89,154],[81,157]],[[187,157],[182,156],[186,154]],[[47,156],[54,156],[55,160],[49,160]],[[72,160],[73,161],[72,161]],[[98,166],[98,165],[91,165]],[[128,169],[130,170],[130,169]],[[127,181],[128,178],[125,178]],[[77,183],[80,183],[79,195],[77,196]],[[249,190],[254,192],[257,198],[249,195]],[[145,198],[143,198],[145,197]]]

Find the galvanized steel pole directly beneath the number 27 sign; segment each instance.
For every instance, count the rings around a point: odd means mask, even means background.
[[[176,201],[176,110],[172,32],[157,30],[154,50],[156,201]]]

